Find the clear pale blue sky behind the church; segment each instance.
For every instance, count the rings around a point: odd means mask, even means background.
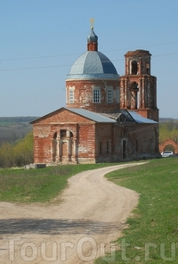
[[[43,116],[66,104],[65,79],[86,51],[125,74],[125,53],[149,50],[159,117],[178,118],[178,0],[0,0],[0,116]]]

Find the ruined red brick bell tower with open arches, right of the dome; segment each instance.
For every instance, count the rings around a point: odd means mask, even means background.
[[[150,75],[149,51],[125,54],[125,75],[120,77],[120,108],[158,121],[157,78]]]

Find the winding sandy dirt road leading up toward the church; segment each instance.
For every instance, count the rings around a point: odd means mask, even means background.
[[[0,262],[93,263],[114,248],[138,194],[109,182],[106,173],[142,163],[110,166],[69,178],[49,204],[0,202]]]

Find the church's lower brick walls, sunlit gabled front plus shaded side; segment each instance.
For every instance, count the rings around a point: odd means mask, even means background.
[[[64,139],[61,129],[67,131]],[[65,109],[34,123],[35,163],[131,161],[157,155],[158,124],[95,123]]]

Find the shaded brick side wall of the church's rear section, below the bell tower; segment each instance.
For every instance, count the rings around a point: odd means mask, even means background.
[[[158,156],[158,124],[133,124],[115,128],[115,160],[140,160]],[[125,141],[125,157],[123,142]]]

